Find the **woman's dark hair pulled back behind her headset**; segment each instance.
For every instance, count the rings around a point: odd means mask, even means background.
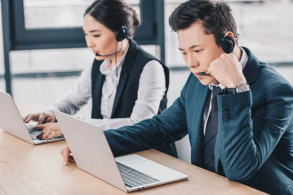
[[[136,12],[124,0],[95,0],[85,10],[84,16],[87,14],[113,32],[118,32],[122,26],[126,26],[129,36],[132,36],[135,27],[140,24]]]

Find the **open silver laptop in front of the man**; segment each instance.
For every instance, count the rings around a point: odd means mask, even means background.
[[[138,155],[114,158],[103,130],[82,119],[53,111],[77,166],[124,192],[132,192],[188,176]]]

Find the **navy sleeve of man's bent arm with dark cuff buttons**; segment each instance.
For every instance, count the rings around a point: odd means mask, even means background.
[[[244,181],[251,178],[272,154],[292,119],[292,86],[280,83],[272,87],[252,117],[251,107],[251,90],[218,95],[219,130],[216,147],[221,148],[219,158],[229,180]],[[228,110],[230,114],[227,114]]]

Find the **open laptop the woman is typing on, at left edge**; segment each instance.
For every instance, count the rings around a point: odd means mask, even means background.
[[[63,135],[50,139],[37,138],[42,130],[35,129],[36,125],[37,123],[24,123],[10,94],[0,91],[0,127],[3,131],[33,145],[64,140]]]

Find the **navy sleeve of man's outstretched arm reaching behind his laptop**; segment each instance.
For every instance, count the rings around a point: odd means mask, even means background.
[[[190,78],[189,76],[180,97],[161,115],[133,126],[104,132],[114,156],[163,147],[187,135],[185,91]]]

